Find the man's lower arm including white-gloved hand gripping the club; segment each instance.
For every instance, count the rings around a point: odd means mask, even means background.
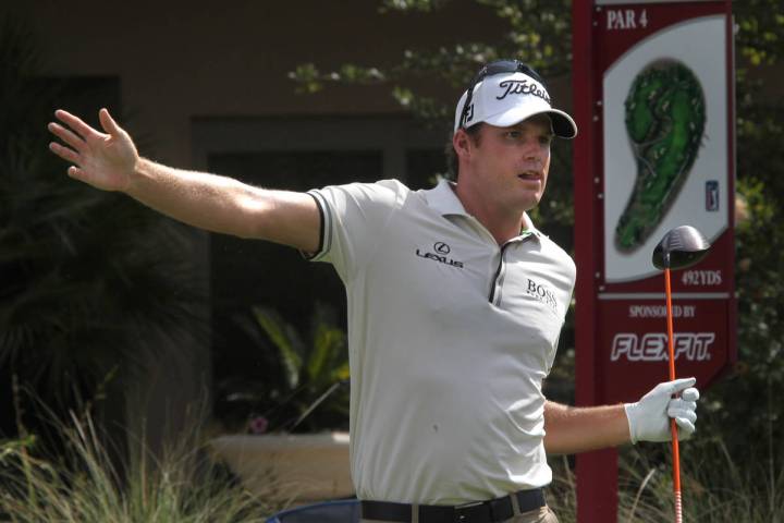
[[[574,408],[548,401],[544,405],[544,449],[574,454],[637,441],[669,441],[670,418],[678,439],[695,431],[699,392],[694,378],[659,384],[636,403]],[[673,398],[674,394],[679,396]]]

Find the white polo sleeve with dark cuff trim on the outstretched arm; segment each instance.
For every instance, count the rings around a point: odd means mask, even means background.
[[[321,214],[321,233],[318,251],[305,253],[306,258],[331,263],[350,281],[371,260],[407,192],[396,180],[309,191]]]

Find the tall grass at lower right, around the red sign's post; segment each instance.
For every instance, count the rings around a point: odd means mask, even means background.
[[[733,457],[721,438],[682,443],[684,521],[689,523],[783,523],[784,466],[775,460]],[[781,461],[781,460],[780,460]],[[577,479],[566,458],[551,463],[548,502],[561,523],[577,521]],[[674,521],[667,445],[641,443],[621,450],[618,523]]]

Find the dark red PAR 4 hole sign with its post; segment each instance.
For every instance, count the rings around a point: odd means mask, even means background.
[[[734,68],[730,0],[575,0],[577,404],[667,379],[666,231],[712,244],[673,273],[678,377],[735,362]],[[577,520],[616,521],[617,453],[577,458]]]

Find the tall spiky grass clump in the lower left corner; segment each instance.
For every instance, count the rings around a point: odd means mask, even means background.
[[[36,455],[33,436],[0,445],[0,520],[249,523],[270,512],[195,435],[158,458],[138,446],[119,471],[89,416],[72,413],[57,430],[68,449],[58,458]]]

